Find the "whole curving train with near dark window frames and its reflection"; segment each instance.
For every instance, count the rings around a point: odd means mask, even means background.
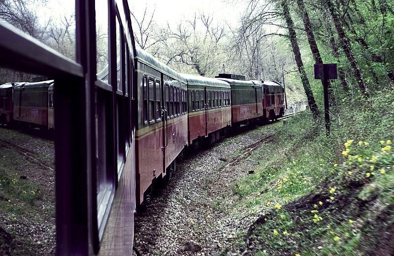
[[[75,1],[75,61],[0,23],[1,65],[53,78],[0,85],[0,123],[55,131],[57,255],[131,255],[136,205],[183,150],[285,111],[280,84],[178,73],[136,47],[128,0],[100,3],[102,13],[95,3]],[[108,66],[98,73],[99,19]]]

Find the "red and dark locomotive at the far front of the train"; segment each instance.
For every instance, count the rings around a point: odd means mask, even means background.
[[[272,81],[263,82],[263,113],[264,119],[274,120],[285,113],[284,89],[282,85]]]

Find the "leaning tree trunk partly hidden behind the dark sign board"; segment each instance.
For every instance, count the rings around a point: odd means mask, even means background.
[[[319,48],[317,47],[317,44],[316,44],[316,39],[315,39],[315,34],[313,33],[312,24],[311,24],[311,21],[309,19],[308,12],[305,9],[304,1],[303,0],[297,0],[297,5],[298,5],[298,8],[301,11],[302,21],[304,23],[306,36],[308,37],[308,43],[309,43],[309,47],[311,48],[313,59],[315,60],[316,64],[323,64],[323,60],[322,60],[322,57],[320,55]],[[323,85],[323,80],[322,80],[322,85]],[[328,86],[328,102],[329,102],[329,105],[330,106],[334,106],[335,105],[335,97],[334,97],[334,95],[332,93],[332,87],[331,87],[331,83],[329,81],[328,81],[327,86]]]

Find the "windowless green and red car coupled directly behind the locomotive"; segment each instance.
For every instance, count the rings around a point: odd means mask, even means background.
[[[245,124],[263,116],[262,84],[252,81],[221,78],[231,86],[232,124]]]

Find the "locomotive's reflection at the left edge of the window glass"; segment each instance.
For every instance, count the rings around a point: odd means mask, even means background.
[[[14,87],[26,83],[7,83],[0,85],[0,123],[10,123],[14,114]]]

